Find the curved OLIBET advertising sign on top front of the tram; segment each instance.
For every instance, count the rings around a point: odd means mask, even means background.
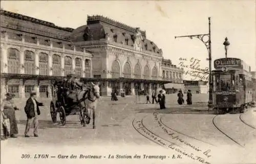
[[[236,67],[242,68],[242,61],[238,58],[221,58],[214,61],[214,67]]]

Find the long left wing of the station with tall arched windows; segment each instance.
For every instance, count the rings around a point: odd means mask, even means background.
[[[51,80],[70,73],[92,76],[92,55],[66,37],[70,28],[1,10],[1,98],[10,91],[27,98],[51,96]]]

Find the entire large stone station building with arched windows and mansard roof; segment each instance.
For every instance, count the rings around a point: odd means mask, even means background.
[[[183,83],[183,69],[163,59],[145,31],[103,16],[88,16],[87,25],[61,28],[51,22],[1,10],[1,98],[7,91],[27,98],[51,97],[51,82],[68,74],[100,82],[102,96],[123,89],[151,93],[163,84]]]

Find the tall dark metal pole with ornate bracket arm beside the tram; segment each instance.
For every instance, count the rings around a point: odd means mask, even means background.
[[[189,37],[190,39],[193,39],[193,37],[200,39],[204,45],[206,46],[206,49],[208,51],[208,60],[209,60],[209,101],[208,101],[208,109],[212,108],[212,88],[213,88],[213,82],[212,82],[212,77],[211,77],[211,37],[210,37],[210,17],[208,17],[209,21],[209,33],[208,34],[198,34],[198,35],[186,35],[186,36],[175,36],[176,38],[181,38],[181,37]],[[205,37],[208,37],[208,40],[204,39]]]

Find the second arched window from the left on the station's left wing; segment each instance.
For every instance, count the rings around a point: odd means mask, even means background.
[[[24,52],[25,74],[35,75],[35,54],[32,51]]]

